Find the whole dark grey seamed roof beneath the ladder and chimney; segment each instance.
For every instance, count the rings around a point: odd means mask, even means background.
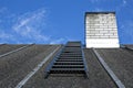
[[[27,47],[23,47],[27,46]],[[129,45],[127,45],[129,46]],[[130,45],[130,47],[133,45]],[[44,79],[44,69],[58,54],[61,45],[19,44],[0,45],[0,56],[17,48],[20,51],[0,57],[0,88],[14,88],[29,73],[53,51],[52,56],[23,85],[22,88],[117,88],[103,68],[92,48],[84,48],[89,79],[82,75],[50,75]],[[96,48],[99,54],[125,85],[133,87],[133,51],[127,48]]]

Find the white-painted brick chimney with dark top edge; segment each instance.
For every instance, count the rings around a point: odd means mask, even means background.
[[[85,14],[86,47],[120,47],[114,12],[88,12]]]

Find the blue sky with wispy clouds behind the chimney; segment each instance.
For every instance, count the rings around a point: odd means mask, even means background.
[[[84,44],[85,12],[115,11],[120,44],[133,44],[133,0],[0,0],[0,43]]]

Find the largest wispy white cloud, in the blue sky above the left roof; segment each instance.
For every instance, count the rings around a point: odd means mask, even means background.
[[[42,33],[45,26],[45,10],[39,9],[33,12],[27,12],[18,18],[12,29],[17,34],[29,41],[47,42],[50,36]],[[45,30],[47,31],[47,30]]]

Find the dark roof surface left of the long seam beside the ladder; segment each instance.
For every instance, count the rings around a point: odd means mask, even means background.
[[[0,55],[23,45],[2,45]],[[0,57],[0,88],[14,88],[57,45],[31,45]]]

